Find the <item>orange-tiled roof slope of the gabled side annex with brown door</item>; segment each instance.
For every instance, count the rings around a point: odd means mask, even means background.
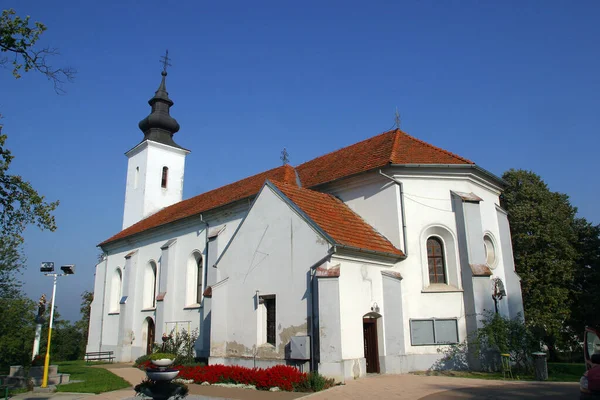
[[[397,257],[404,256],[402,251],[341,200],[296,185],[275,181],[271,183],[338,244]]]

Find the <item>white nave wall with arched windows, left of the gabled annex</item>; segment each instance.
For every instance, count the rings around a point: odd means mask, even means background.
[[[190,294],[188,293],[187,281],[189,278],[195,279],[195,276],[188,276],[188,261],[195,252],[199,253],[202,257],[203,272],[205,272],[202,290],[204,291],[209,285],[214,284],[216,276],[209,269],[214,270],[212,265],[220,252],[222,252],[225,246],[223,243],[226,244],[225,240],[227,240],[227,237],[231,237],[236,230],[247,208],[248,204],[246,202],[232,204],[217,212],[203,215],[202,218],[198,216],[195,219],[176,223],[164,227],[159,231],[141,235],[135,239],[109,244],[106,248],[109,254],[107,263],[102,264],[104,267],[98,267],[102,268],[103,271],[108,268],[109,271],[104,320],[102,321],[100,317],[101,310],[92,317],[94,324],[98,326],[98,330],[100,329],[100,325],[103,325],[102,348],[116,350],[118,347],[118,338],[128,338],[127,333],[130,333],[131,355],[124,355],[124,358],[119,361],[133,361],[137,357],[146,354],[148,338],[146,318],[151,318],[156,324],[155,341],[157,344],[162,343],[161,336],[163,333],[178,333],[182,329],[186,331],[198,330],[199,338],[196,342],[197,354],[208,357],[210,331],[203,329],[202,321],[209,324],[207,318],[210,314],[210,305],[208,305],[210,302],[205,301],[208,299],[204,298],[199,304],[188,301]],[[208,231],[215,230],[216,232],[220,232],[217,237],[210,240],[209,246],[212,246],[209,247],[209,253],[212,255],[211,259],[207,259],[206,254],[207,223]],[[161,246],[165,245],[171,239],[175,239],[175,241],[169,247],[171,251],[168,261],[163,260]],[[216,253],[215,250],[217,251]],[[125,256],[132,252],[134,252],[132,257],[135,258],[135,263],[132,263],[132,271],[129,271],[128,282],[123,282],[123,284],[132,285],[128,291],[129,298],[125,304],[125,307],[127,307],[127,318],[122,324],[122,331],[119,332],[120,307],[116,304],[118,301],[111,302],[110,297],[111,291],[114,291],[114,296],[120,299],[122,289],[119,291],[116,285],[112,284],[111,277],[113,275],[111,273],[114,273],[117,268],[123,271],[126,261]],[[165,266],[165,262],[168,262],[169,265]],[[166,277],[166,295],[162,304],[160,304],[160,301],[155,301],[155,307],[147,307],[151,297],[149,292],[152,291],[151,288],[147,287],[149,282],[149,263],[155,263],[157,268],[156,295],[160,294],[161,273],[164,274],[165,271],[168,271],[166,272],[168,274]],[[99,281],[99,278],[102,279]],[[98,288],[95,287],[95,293],[99,293],[98,290],[101,291],[103,280],[104,277],[97,274],[95,284],[96,286],[100,286]],[[195,293],[192,297],[195,297]],[[111,309],[112,306],[114,307]],[[101,306],[98,308],[101,309]],[[90,342],[97,340],[99,344],[100,335],[98,334],[97,336],[94,339],[92,333],[90,333]],[[110,346],[110,349],[107,346]]]

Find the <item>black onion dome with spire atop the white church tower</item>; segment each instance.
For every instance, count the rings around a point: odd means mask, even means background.
[[[144,140],[167,144],[169,146],[181,147],[173,141],[173,134],[179,131],[179,123],[169,114],[173,101],[167,93],[165,83],[167,73],[162,72],[162,81],[154,97],[148,100],[152,112],[140,121],[140,130],[144,133]]]

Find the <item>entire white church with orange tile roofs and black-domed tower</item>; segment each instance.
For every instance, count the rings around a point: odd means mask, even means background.
[[[522,314],[500,178],[394,129],[183,200],[166,76],[125,153],[87,351],[133,361],[197,331],[211,364],[344,381],[428,369],[485,311]]]

